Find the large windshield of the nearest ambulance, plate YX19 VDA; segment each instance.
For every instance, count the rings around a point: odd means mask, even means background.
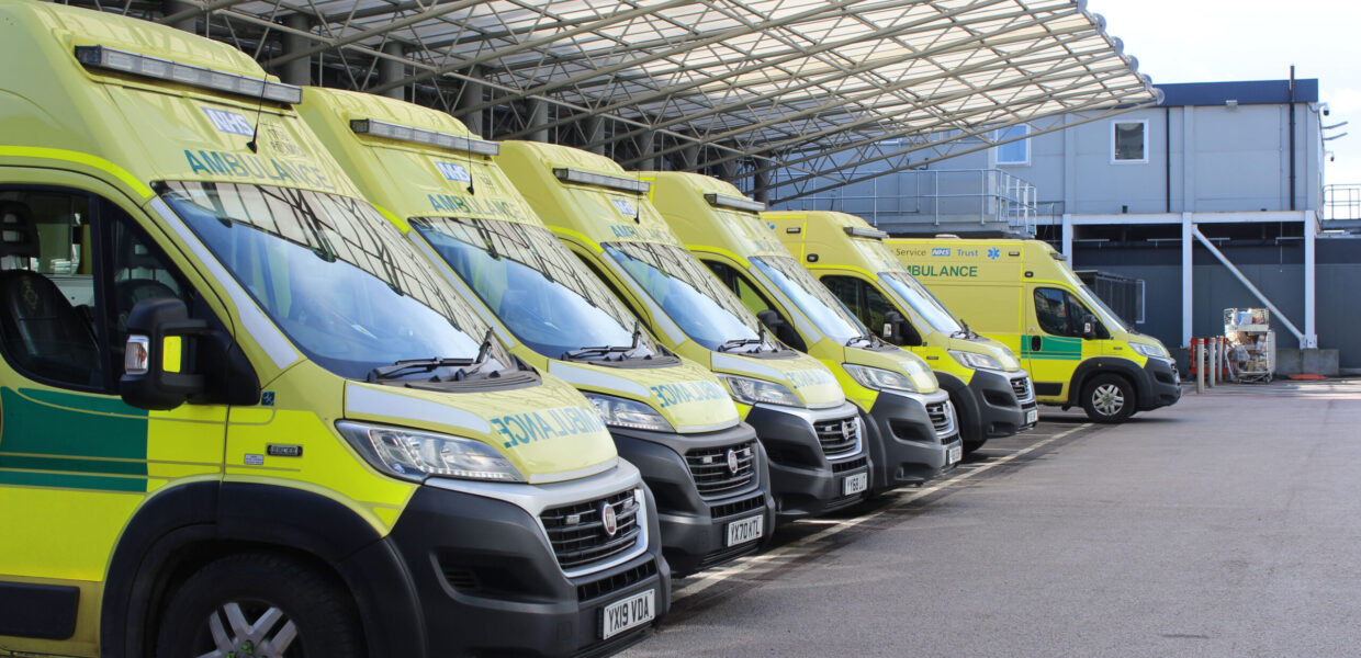
[[[225,182],[169,182],[161,196],[294,345],[340,377],[513,363],[494,339],[483,349],[486,325],[366,203]],[[427,367],[392,368],[406,360]]]

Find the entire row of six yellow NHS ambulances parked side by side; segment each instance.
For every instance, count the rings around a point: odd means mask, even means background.
[[[1179,394],[1040,242],[768,212],[109,14],[0,33],[0,653],[610,653],[672,574],[1037,400]]]

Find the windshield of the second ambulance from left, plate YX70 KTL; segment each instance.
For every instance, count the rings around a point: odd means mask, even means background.
[[[547,228],[493,219],[415,218],[411,226],[535,352],[554,359],[657,353],[622,302]]]

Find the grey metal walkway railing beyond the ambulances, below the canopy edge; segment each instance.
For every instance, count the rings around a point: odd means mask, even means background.
[[[1028,234],[1034,234],[1040,213],[1034,185],[1000,169],[902,171],[891,184],[876,178],[867,192],[847,194],[845,189],[836,189],[791,201],[788,207],[849,212],[875,226],[1002,228],[1004,224],[1010,231]]]

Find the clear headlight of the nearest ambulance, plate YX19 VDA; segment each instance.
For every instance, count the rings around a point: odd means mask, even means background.
[[[523,483],[524,476],[491,446],[448,434],[340,420],[336,430],[374,468],[393,477],[459,477]]]

